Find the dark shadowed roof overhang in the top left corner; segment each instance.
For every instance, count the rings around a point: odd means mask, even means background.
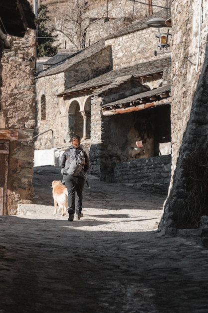
[[[23,37],[35,29],[35,15],[27,0],[0,0],[0,28],[3,33]]]

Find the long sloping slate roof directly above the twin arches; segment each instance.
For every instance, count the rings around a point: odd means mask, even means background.
[[[136,65],[108,71],[100,76],[97,76],[85,82],[79,83],[69,89],[66,89],[57,95],[63,96],[66,94],[78,93],[79,91],[87,90],[93,91],[93,89],[112,83],[119,76],[133,75],[136,78],[140,78],[144,75],[154,76],[156,73],[163,73],[165,67],[171,67],[171,56],[158,59],[156,58],[155,60],[145,63],[139,63]]]

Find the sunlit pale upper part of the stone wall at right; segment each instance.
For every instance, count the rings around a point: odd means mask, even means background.
[[[205,58],[208,5],[199,3],[174,1],[172,7],[172,174]]]

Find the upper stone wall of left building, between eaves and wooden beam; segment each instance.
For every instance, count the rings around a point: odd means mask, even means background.
[[[6,128],[34,128],[35,51],[32,34],[33,30],[30,30],[24,38],[12,40],[11,49],[3,50],[0,118],[5,120]]]

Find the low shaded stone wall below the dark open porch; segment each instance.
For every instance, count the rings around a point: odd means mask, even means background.
[[[112,182],[167,194],[171,178],[171,154],[117,162],[114,164],[113,175]]]

